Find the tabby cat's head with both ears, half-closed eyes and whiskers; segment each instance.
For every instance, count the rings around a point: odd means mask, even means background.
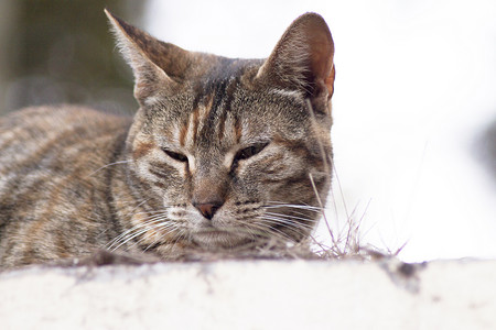
[[[217,248],[308,237],[332,173],[334,44],[322,16],[298,18],[268,59],[230,59],[107,14],[136,78],[128,176],[150,240]]]

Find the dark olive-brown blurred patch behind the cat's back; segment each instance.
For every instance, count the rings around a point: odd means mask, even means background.
[[[6,1],[6,0],[2,0]],[[3,111],[84,103],[110,112],[137,109],[132,76],[118,54],[104,8],[140,24],[145,1],[13,0]]]

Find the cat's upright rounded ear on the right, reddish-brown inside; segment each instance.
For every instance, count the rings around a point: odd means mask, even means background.
[[[330,111],[334,92],[334,42],[324,19],[305,13],[285,30],[256,79],[300,91],[315,110]]]

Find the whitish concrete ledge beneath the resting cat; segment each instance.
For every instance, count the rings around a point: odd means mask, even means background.
[[[251,261],[0,274],[1,329],[496,329],[496,261]]]

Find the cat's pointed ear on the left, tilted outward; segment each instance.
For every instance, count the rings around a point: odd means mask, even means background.
[[[161,42],[105,9],[117,45],[134,74],[134,98],[141,106],[161,92],[174,92],[184,79],[191,56]]]

